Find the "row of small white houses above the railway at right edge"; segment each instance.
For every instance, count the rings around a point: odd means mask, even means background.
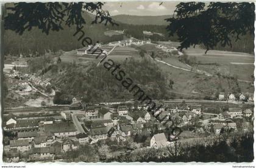
[[[252,93],[239,93],[239,94],[234,94],[234,93],[224,93],[221,92],[219,93],[219,100],[248,100],[250,102],[254,101],[254,94]]]

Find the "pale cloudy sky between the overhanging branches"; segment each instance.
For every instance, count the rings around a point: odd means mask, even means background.
[[[179,2],[106,2],[102,7],[108,10],[111,16],[140,15],[160,16],[172,15]]]

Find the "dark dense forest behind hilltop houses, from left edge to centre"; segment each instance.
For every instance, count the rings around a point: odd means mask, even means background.
[[[163,37],[157,34],[151,36],[150,38],[154,41],[176,40],[175,37],[168,37],[168,33],[165,29],[166,26],[132,25],[118,22],[118,26],[112,26],[111,24],[105,26],[104,24],[91,24],[94,16],[86,12],[84,15],[87,20],[87,24],[84,24],[84,28],[82,29],[85,32],[84,37],[90,37],[93,43],[96,43],[96,41],[101,43],[119,41],[127,36],[143,39],[146,38],[143,35],[143,30],[163,33]],[[104,35],[104,32],[107,30],[126,30],[126,33],[124,35],[108,37]],[[30,57],[43,55],[49,51],[71,51],[83,47],[81,41],[78,40],[82,33],[73,36],[76,32],[76,26],[65,26],[64,29],[59,32],[49,32],[49,35],[35,28],[29,32],[24,32],[23,35],[19,35],[12,30],[5,30],[4,54],[18,56],[22,54],[24,57]]]

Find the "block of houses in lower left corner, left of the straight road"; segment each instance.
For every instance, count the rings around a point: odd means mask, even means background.
[[[4,131],[16,134],[15,138],[4,139],[7,161],[20,161],[23,155],[33,161],[53,160],[54,156],[61,156],[62,152],[79,145],[79,138],[76,138],[79,133],[70,114],[63,111],[58,114],[10,114],[5,121]]]

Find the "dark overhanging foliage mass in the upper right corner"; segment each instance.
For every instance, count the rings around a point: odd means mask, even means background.
[[[248,2],[181,2],[166,19],[170,23],[166,29],[179,37],[179,49],[204,44],[208,51],[219,43],[232,47],[232,38],[254,34],[254,10],[254,3]]]

